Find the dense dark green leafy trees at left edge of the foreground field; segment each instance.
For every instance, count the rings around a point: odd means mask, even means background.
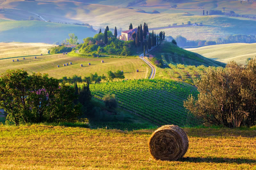
[[[0,107],[7,122],[64,122],[77,118],[80,108],[74,105],[76,96],[70,86],[60,84],[47,74],[25,70],[7,70],[0,78]]]

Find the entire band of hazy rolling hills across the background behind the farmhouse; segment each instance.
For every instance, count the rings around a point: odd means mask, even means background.
[[[166,36],[182,35],[188,40],[209,41],[231,34],[256,35],[255,8],[255,0],[242,1],[242,4],[240,1],[231,0],[0,0],[0,18],[19,20],[8,23],[0,20],[0,42],[53,43],[67,38],[71,32],[82,40],[93,36],[107,25],[110,30],[116,26],[120,33],[127,30],[131,22],[134,27],[146,22],[150,30],[154,29],[156,33],[161,30],[165,31]],[[225,14],[211,14],[213,12],[210,13],[210,10],[220,10]],[[211,15],[206,16],[206,11]],[[232,16],[231,11],[234,12]],[[52,23],[22,21],[28,19]],[[188,26],[188,21],[192,24],[202,23],[203,26]],[[88,23],[91,26],[79,26],[74,23]]]

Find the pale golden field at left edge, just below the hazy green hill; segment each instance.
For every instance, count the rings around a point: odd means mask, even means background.
[[[48,48],[54,47],[45,43],[2,43],[0,42],[0,59],[22,55],[48,54]]]

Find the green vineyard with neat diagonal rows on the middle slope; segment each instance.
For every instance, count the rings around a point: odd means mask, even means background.
[[[197,91],[192,86],[174,80],[140,79],[100,83],[90,85],[90,90],[99,100],[105,94],[115,94],[119,107],[156,125],[193,124],[187,122],[183,101],[189,94],[196,95]]]

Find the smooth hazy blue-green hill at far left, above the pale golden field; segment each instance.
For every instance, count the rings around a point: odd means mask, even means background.
[[[12,21],[0,19],[0,42],[44,42],[53,44],[75,33],[79,40],[93,36],[95,32],[85,26],[43,21]]]

